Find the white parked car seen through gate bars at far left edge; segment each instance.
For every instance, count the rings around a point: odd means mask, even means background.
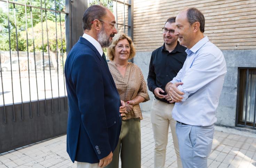
[[[19,65],[18,65],[18,61],[19,61]],[[10,64],[10,59],[5,61],[4,63],[1,63],[1,70],[4,71],[10,71],[11,69],[13,71],[15,70],[21,70],[21,71],[25,71],[25,70],[34,70],[35,66],[34,66],[34,59],[29,57],[29,67],[27,65],[27,57],[13,57],[11,58],[11,64]]]

